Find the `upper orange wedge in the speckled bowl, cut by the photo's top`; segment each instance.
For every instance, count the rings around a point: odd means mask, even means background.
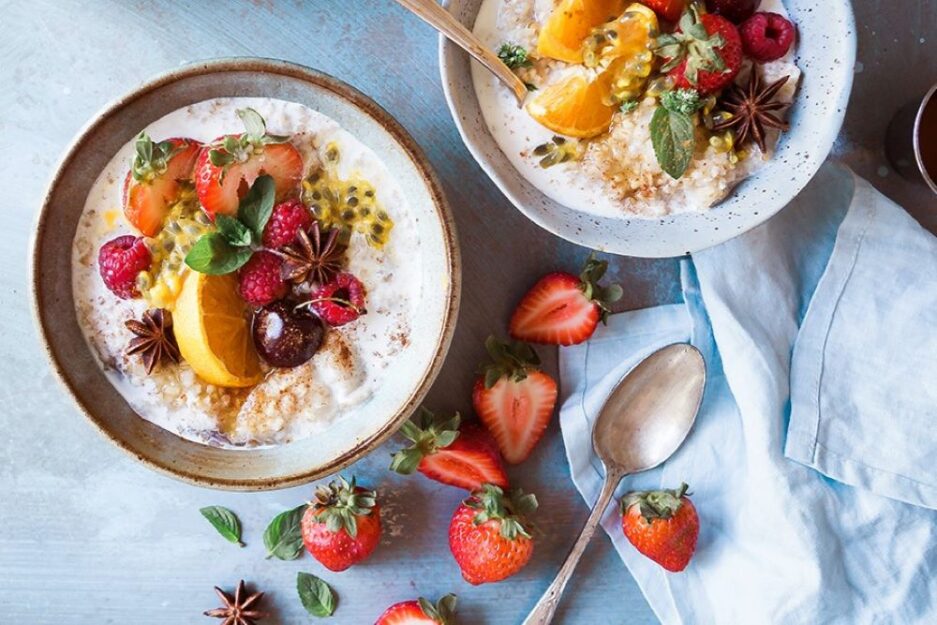
[[[624,0],[561,0],[540,29],[537,54],[582,63],[582,42],[593,28],[619,16]]]

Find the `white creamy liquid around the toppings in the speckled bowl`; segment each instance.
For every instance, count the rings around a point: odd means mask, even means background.
[[[475,20],[474,33],[492,50],[497,50],[503,43],[514,43],[533,50],[539,25],[546,20],[555,4],[556,0],[483,0]],[[788,15],[782,0],[763,0],[759,11]],[[570,74],[588,74],[584,67],[558,61],[550,63],[545,71],[544,81],[538,85],[541,90],[547,84],[559,82]],[[793,47],[784,58],[766,64],[764,71],[766,80],[790,75],[790,84],[780,96],[793,98],[800,77],[800,71],[794,64]],[[750,157],[746,159],[750,162],[740,164],[732,179],[719,181],[713,189],[700,190],[700,185],[694,181],[694,185],[680,189],[679,193],[665,202],[647,201],[647,206],[625,204],[621,198],[610,193],[601,180],[584,175],[581,163],[541,167],[539,159],[531,152],[534,147],[548,142],[555,133],[541,126],[524,108],[519,108],[514,94],[479,63],[472,63],[472,82],[482,117],[511,164],[545,195],[576,211],[602,217],[659,217],[669,213],[705,210],[713,203],[713,197],[716,197],[716,201],[724,198],[732,185],[759,165],[756,162],[758,156]],[[536,95],[536,91],[528,95],[527,101]],[[646,108],[650,106],[646,104]],[[638,114],[649,119],[650,112],[645,110]],[[648,148],[648,153],[651,152]],[[721,163],[718,165],[711,169],[724,172],[726,168]]]

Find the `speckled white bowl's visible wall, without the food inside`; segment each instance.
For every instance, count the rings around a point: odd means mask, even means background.
[[[785,0],[797,23],[797,65],[804,77],[790,113],[791,130],[775,157],[722,203],[703,213],[663,219],[612,219],[572,210],[547,197],[508,161],[482,118],[467,54],[440,38],[446,100],[462,139],[482,169],[534,223],[574,243],[615,254],[668,257],[711,247],[781,210],[810,181],[839,134],[852,89],[856,28],[849,0]],[[449,0],[469,28],[481,0]]]

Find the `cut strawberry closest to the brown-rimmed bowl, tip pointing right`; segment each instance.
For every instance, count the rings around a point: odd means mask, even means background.
[[[483,484],[507,488],[508,476],[491,435],[473,423],[460,428],[460,421],[459,413],[442,420],[421,408],[420,424],[407,421],[400,430],[413,445],[394,454],[391,470],[403,475],[419,470],[432,480],[468,491]]]

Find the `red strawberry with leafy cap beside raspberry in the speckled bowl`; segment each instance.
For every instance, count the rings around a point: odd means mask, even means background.
[[[665,59],[661,71],[669,73],[674,87],[700,95],[728,87],[742,68],[738,28],[721,15],[701,15],[695,5],[684,11],[674,33],[657,38],[657,46],[656,54]]]

